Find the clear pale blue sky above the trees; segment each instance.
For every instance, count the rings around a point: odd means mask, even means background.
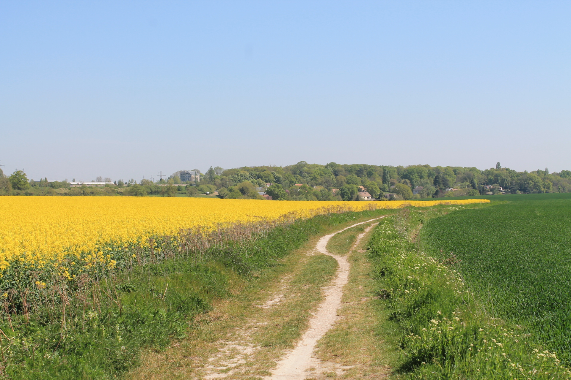
[[[3,1],[5,173],[571,169],[568,1]]]

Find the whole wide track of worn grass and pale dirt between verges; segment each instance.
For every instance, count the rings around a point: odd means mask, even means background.
[[[362,245],[359,240],[371,230],[372,222],[380,218],[312,239],[313,243],[300,247],[280,265],[269,269],[259,283],[250,281],[246,284],[251,288],[245,291],[245,297],[221,299],[210,312],[200,314],[200,324],[188,338],[174,342],[164,352],[147,352],[143,357],[144,365],[127,378],[277,380],[349,375],[356,379],[363,378],[361,374],[367,378],[371,367],[369,357],[375,354],[377,345],[371,347],[364,342],[372,333],[369,316],[373,313],[363,309],[363,305],[367,305],[363,303],[363,297],[368,293],[361,285],[366,287],[366,281],[363,282],[360,278],[363,276],[357,273],[362,271],[363,265],[361,261],[355,261],[353,255],[361,252],[356,251]],[[350,248],[345,247],[339,256],[327,251],[332,236],[364,223],[371,226],[357,236]],[[347,256],[343,256],[345,253]],[[349,260],[354,264],[349,265]],[[356,269],[359,270],[354,272]],[[344,292],[343,287],[349,279],[352,288],[347,287]],[[350,313],[345,310],[347,307],[351,307]],[[366,321],[355,319],[365,314]],[[351,334],[354,338],[349,342],[351,348],[346,346],[346,338],[332,342],[327,335],[324,337],[328,332],[335,334],[336,328],[345,332],[357,330]],[[366,332],[367,336],[359,332]],[[295,347],[284,352],[284,346],[292,347],[295,341],[299,341]],[[324,343],[339,351],[331,355],[331,349],[325,353],[322,349],[316,350],[318,341],[320,345]],[[361,350],[367,350],[367,363]],[[375,355],[385,356],[384,353]]]

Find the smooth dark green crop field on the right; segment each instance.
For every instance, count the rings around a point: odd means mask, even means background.
[[[545,194],[553,195],[553,194]],[[571,363],[571,199],[518,201],[428,222],[423,250],[456,268],[492,317]]]

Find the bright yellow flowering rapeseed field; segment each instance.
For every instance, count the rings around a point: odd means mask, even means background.
[[[0,197],[3,227],[0,269],[3,272],[15,262],[26,268],[58,268],[60,265],[58,272],[71,278],[74,275],[70,275],[69,268],[75,268],[74,272],[98,264],[112,268],[116,264],[114,256],[120,251],[126,254],[133,244],[148,246],[150,238],[174,236],[189,228],[208,230],[220,224],[276,220],[292,214],[305,218],[335,207],[360,211],[475,202],[489,201],[268,202],[158,197]]]

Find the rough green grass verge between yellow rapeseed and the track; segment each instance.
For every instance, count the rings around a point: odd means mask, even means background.
[[[45,299],[35,302],[33,313],[6,310],[1,322],[5,374],[18,379],[122,377],[138,364],[143,348],[160,350],[186,336],[196,327],[192,321],[197,314],[232,297],[311,236],[385,213],[297,220],[261,238],[206,249],[188,259],[147,263],[99,281],[86,277],[75,288],[62,280],[46,292],[39,283],[38,294]]]

